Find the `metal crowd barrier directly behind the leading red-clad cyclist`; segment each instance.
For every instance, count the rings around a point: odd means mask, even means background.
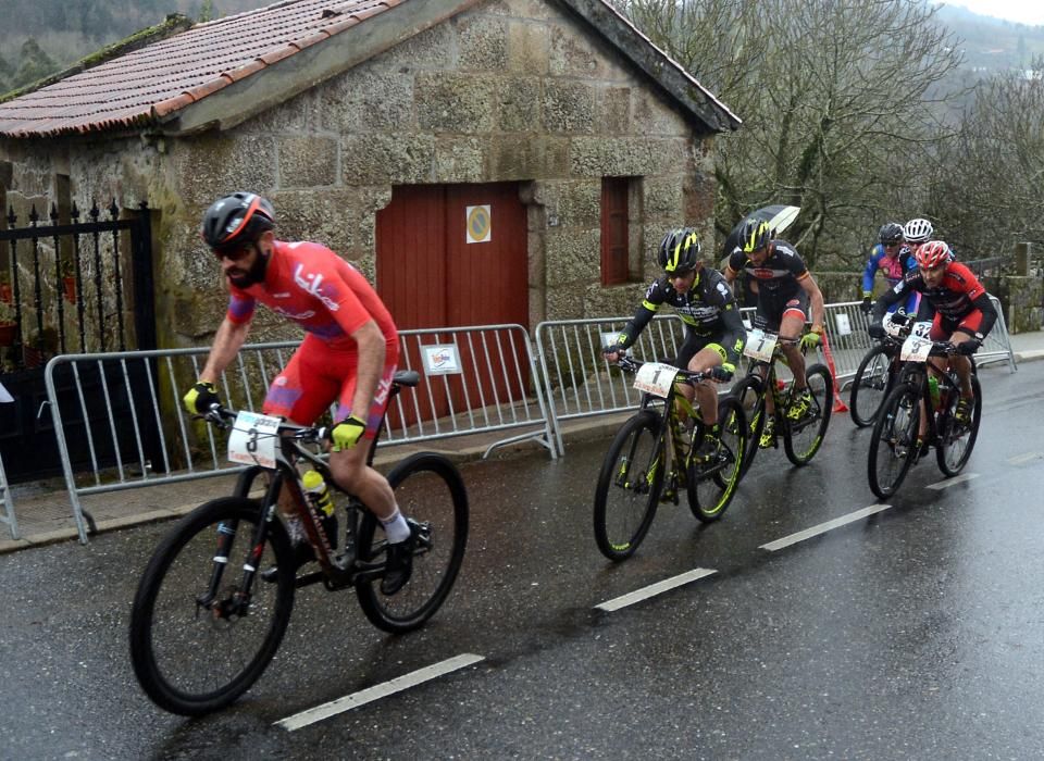
[[[535,431],[495,441],[485,454],[532,438],[557,457],[524,328],[487,325],[399,335],[399,369],[420,371],[422,383],[403,388],[389,406],[382,447],[531,427]],[[219,383],[224,403],[260,409],[297,346],[244,346]],[[181,404],[182,391],[198,377],[208,353],[209,348],[63,354],[48,362],[48,401],[82,542],[91,520],[83,496],[243,470],[225,459],[226,434],[191,420]]]

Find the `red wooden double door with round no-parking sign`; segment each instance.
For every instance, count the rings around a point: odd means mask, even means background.
[[[525,208],[514,183],[395,187],[391,202],[377,212],[376,251],[377,292],[399,329],[529,324]],[[435,342],[424,337],[424,345]],[[434,406],[443,415],[450,398],[456,410],[465,399],[474,406],[493,398],[492,387],[480,395],[482,378],[471,372],[477,365],[485,375],[485,355],[473,359],[465,344],[459,348],[464,375],[449,379],[449,398],[442,383],[433,384],[432,398],[419,399],[422,411]],[[408,351],[400,366],[423,369],[415,341]],[[513,374],[515,363],[527,370],[524,349],[505,370]],[[501,400],[518,399],[529,378],[520,384],[497,375],[492,383]]]

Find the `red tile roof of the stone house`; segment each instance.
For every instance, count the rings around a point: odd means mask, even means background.
[[[198,24],[0,103],[0,135],[36,137],[144,125],[403,1],[284,0]]]

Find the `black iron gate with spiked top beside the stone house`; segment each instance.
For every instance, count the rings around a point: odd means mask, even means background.
[[[0,230],[0,378],[15,402],[0,404],[0,458],[10,483],[62,472],[50,415],[41,414],[51,357],[156,348],[149,214],[145,202],[126,219],[114,201],[104,212],[91,204],[86,214],[74,203],[63,223],[54,205],[49,220],[34,205],[20,227],[9,210],[8,229]],[[72,394],[84,382],[104,379],[67,378],[60,386]],[[142,374],[129,383],[147,388],[149,380]],[[75,460],[74,466],[90,466],[86,452]]]

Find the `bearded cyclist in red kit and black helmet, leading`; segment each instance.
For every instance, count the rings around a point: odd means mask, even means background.
[[[330,470],[384,526],[389,550],[381,590],[391,595],[409,579],[413,535],[387,479],[366,465],[365,441],[373,439],[387,406],[398,333],[358,270],[319,244],[276,240],[274,227],[272,204],[252,192],[221,198],[203,214],[201,235],[227,280],[228,309],[184,403],[189,412],[202,413],[217,402],[215,384],[246,341],[258,303],[298,323],[304,340],[272,382],[262,410],[312,425],[337,402]],[[360,441],[363,446],[357,446]],[[289,508],[284,511],[291,514]],[[287,531],[298,562],[312,559],[296,517],[287,519]]]

